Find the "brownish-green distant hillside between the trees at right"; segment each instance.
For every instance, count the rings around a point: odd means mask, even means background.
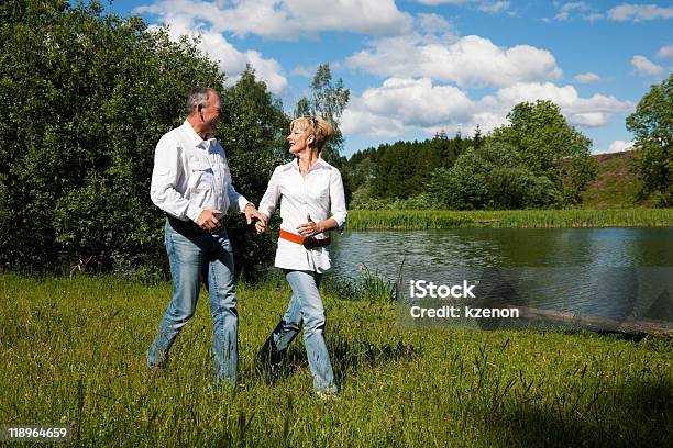
[[[598,176],[582,195],[583,208],[619,209],[648,205],[636,203],[633,198],[640,188],[637,177],[629,169],[633,152],[598,154]]]

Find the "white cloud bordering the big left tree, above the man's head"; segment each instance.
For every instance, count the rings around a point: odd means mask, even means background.
[[[197,29],[186,18],[168,18],[168,35],[177,41],[181,35],[200,36],[199,49],[211,59],[218,61],[218,67],[227,76],[229,85],[234,83],[250,64],[258,77],[266,82],[268,90],[279,93],[287,86],[280,64],[275,59],[265,59],[258,52],[240,52],[231,45],[222,34],[207,29]]]

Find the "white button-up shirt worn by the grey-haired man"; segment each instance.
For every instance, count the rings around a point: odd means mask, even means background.
[[[222,146],[202,139],[187,121],[156,145],[150,197],[164,212],[195,223],[206,209],[240,212],[249,203],[231,184]]]

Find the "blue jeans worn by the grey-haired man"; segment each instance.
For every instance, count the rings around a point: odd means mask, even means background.
[[[216,381],[235,384],[239,315],[233,255],[227,229],[186,236],[166,223],[165,244],[173,277],[173,300],[147,350],[147,367],[166,365],[177,334],[194,316],[202,277],[210,295]]]

